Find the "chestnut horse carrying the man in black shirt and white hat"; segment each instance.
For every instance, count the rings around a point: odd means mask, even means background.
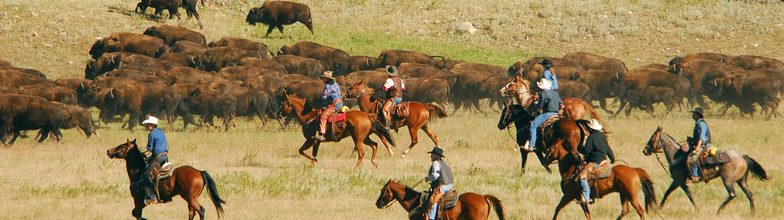
[[[579,175],[579,171],[583,168],[583,159],[577,152],[577,145],[575,140],[581,140],[583,132],[579,131],[579,124],[584,122],[575,122],[568,119],[560,119],[553,125],[553,138],[547,144],[547,160],[550,163],[558,161],[558,171],[561,173],[561,192],[564,196],[561,197],[561,202],[555,207],[555,214],[553,219],[558,217],[558,212],[561,208],[572,202],[572,200],[579,200],[582,195],[579,181],[575,178]],[[592,197],[601,198],[609,193],[619,193],[621,198],[621,215],[617,219],[623,218],[629,213],[631,204],[632,207],[640,215],[641,219],[645,219],[643,209],[637,201],[637,194],[643,191],[645,196],[645,211],[655,208],[656,194],[653,189],[653,181],[648,176],[648,172],[641,168],[630,168],[625,165],[617,165],[611,169],[610,176],[605,179],[599,179],[597,187],[593,187],[595,180],[589,180]],[[586,218],[590,219],[590,211],[587,204],[582,204],[583,212]]]

